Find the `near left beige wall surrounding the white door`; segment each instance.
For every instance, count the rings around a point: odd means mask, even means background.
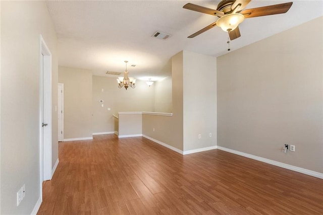
[[[40,34],[52,54],[52,160],[55,164],[58,159],[55,28],[45,2],[1,2],[1,214],[30,214],[40,197]],[[17,207],[16,193],[23,184],[26,197]]]

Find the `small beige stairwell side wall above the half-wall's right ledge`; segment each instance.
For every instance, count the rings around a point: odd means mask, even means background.
[[[172,77],[157,81],[155,87],[155,112],[172,113]]]

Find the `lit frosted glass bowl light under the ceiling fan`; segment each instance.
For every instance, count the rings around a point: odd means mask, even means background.
[[[236,29],[243,20],[244,16],[242,14],[227,14],[218,19],[217,26],[221,27],[224,31],[230,32]]]

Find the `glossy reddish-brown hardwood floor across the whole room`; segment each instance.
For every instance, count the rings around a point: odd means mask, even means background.
[[[38,214],[323,214],[323,180],[220,150],[114,134],[60,142]]]

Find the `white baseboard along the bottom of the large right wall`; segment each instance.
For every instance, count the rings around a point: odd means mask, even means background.
[[[295,172],[299,172],[299,173],[310,175],[310,176],[313,176],[313,177],[316,177],[316,178],[323,179],[323,173],[303,169],[303,168],[300,168],[300,167],[292,166],[292,165],[281,163],[281,162],[278,162],[278,161],[273,161],[273,160],[266,159],[266,158],[261,158],[261,157],[255,156],[255,155],[250,155],[250,154],[247,154],[247,153],[227,149],[227,148],[224,148],[224,147],[219,147],[218,146],[218,149],[222,150],[222,151],[229,152],[229,153],[233,153],[233,154],[236,154],[236,155],[240,155],[240,156],[243,156],[243,157],[246,157],[246,158],[250,158],[250,159],[253,159],[253,160],[261,161],[261,162],[264,162],[264,163],[267,163],[267,164],[271,164],[271,165],[274,165],[274,166],[282,167],[282,168],[285,168],[285,169],[288,169],[288,170],[292,170],[292,171],[295,171]]]

